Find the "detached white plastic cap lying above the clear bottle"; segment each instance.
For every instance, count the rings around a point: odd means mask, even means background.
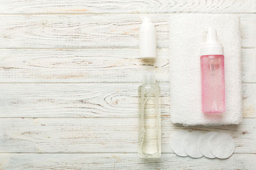
[[[140,58],[156,57],[156,29],[150,18],[144,17],[140,26]]]

